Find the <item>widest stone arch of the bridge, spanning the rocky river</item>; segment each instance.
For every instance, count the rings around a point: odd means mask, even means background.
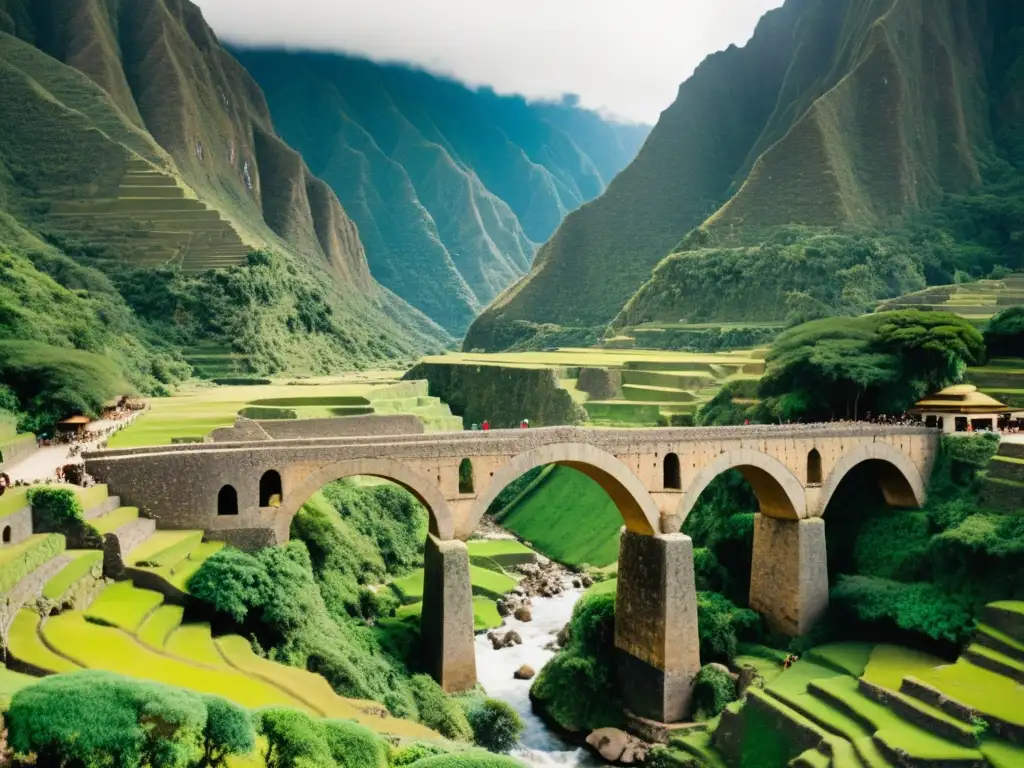
[[[629,467],[593,445],[559,442],[519,454],[495,472],[487,487],[473,504],[465,529],[459,531],[460,538],[468,537],[476,528],[487,507],[506,485],[524,472],[548,464],[571,467],[597,482],[618,508],[629,530],[646,536],[658,532],[657,505]]]

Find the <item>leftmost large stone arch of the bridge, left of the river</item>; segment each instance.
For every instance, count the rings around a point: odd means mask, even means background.
[[[365,475],[390,480],[416,497],[430,515],[430,532],[441,541],[455,538],[455,521],[447,502],[441,495],[437,483],[413,471],[404,464],[393,459],[353,459],[350,461],[329,464],[313,472],[302,481],[296,489],[289,489],[288,500],[282,504],[281,511],[289,518],[294,516],[309,497],[329,482],[345,477]]]

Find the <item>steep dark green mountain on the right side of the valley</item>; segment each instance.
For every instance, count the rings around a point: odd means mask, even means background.
[[[1022,50],[1014,0],[787,0],[680,86],[465,347],[863,311],[1024,267]]]

